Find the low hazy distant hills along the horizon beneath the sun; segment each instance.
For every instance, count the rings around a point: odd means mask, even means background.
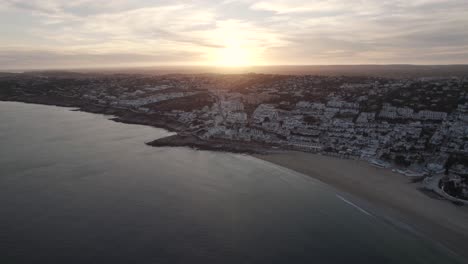
[[[17,72],[17,71],[16,71]],[[331,76],[373,76],[390,78],[418,77],[451,77],[468,76],[468,65],[274,65],[249,67],[215,67],[215,66],[155,66],[132,68],[82,68],[67,70],[25,71],[28,74],[44,74],[47,76],[69,75],[77,77],[80,73],[104,74],[241,74],[264,73],[285,75],[331,75]],[[0,72],[0,77],[11,73]]]

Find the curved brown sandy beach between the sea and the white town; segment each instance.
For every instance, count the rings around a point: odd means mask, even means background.
[[[365,161],[302,152],[254,156],[309,175],[362,199],[468,259],[468,208],[431,198],[420,191],[421,183],[412,183],[404,175],[371,166]]]

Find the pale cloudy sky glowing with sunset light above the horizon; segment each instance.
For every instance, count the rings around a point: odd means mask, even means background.
[[[0,0],[0,68],[466,64],[467,0]]]

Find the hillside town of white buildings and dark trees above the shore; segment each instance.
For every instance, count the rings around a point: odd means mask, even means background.
[[[203,142],[363,159],[408,177],[444,174],[441,188],[468,198],[467,77],[24,73],[0,76],[0,100],[132,113]]]

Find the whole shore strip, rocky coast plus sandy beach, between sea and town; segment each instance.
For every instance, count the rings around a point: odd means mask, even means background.
[[[136,113],[77,102],[54,103],[53,100],[2,99],[3,102],[31,103],[57,107],[77,108],[94,114],[113,115],[114,122],[138,124],[177,132],[176,135],[146,142],[153,147],[189,147],[198,150],[245,153],[254,158],[310,176],[336,190],[362,199],[404,225],[411,223],[418,233],[440,243],[454,254],[468,259],[464,245],[468,244],[468,208],[457,207],[446,200],[435,199],[421,190],[421,183],[394,173],[389,169],[371,166],[363,160],[342,159],[315,153],[274,149],[271,145],[255,142],[239,144],[228,140],[201,140],[183,132],[182,124],[161,115]],[[142,142],[143,143],[143,142]],[[422,187],[422,186],[420,186]],[[390,221],[389,219],[383,219]]]

